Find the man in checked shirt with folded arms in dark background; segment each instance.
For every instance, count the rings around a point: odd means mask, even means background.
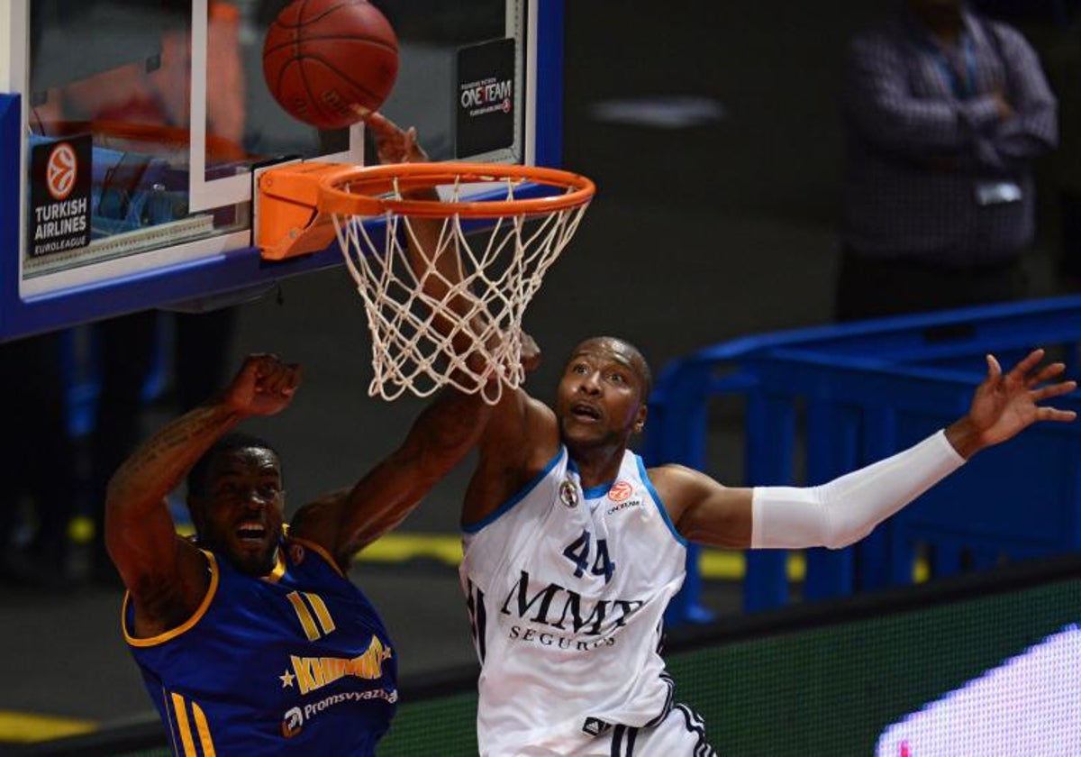
[[[905,0],[845,62],[842,321],[1023,298],[1056,101],[1022,35]]]

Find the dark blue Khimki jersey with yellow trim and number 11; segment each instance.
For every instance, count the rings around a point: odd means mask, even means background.
[[[205,553],[206,597],[154,638],[123,630],[184,757],[371,755],[398,701],[397,659],[368,598],[318,545],[286,539],[263,579]]]

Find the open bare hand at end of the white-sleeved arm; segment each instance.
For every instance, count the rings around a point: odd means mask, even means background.
[[[947,430],[947,435],[955,431],[950,441],[961,455],[969,457],[1001,443],[1037,421],[1067,422],[1077,417],[1072,410],[1040,404],[1077,388],[1076,381],[1047,384],[1062,375],[1066,367],[1053,362],[1038,368],[1043,356],[1044,350],[1035,349],[1005,374],[995,356],[987,356],[987,377],[976,388],[969,414]]]

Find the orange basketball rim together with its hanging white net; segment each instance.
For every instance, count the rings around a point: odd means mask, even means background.
[[[427,397],[453,386],[494,404],[520,386],[522,316],[595,190],[565,171],[475,163],[389,164],[322,180],[319,207],[333,218],[368,316],[369,395]]]

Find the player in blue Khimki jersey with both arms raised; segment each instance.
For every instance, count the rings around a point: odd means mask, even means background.
[[[423,159],[412,131],[370,127],[385,162]],[[298,366],[249,357],[219,398],[154,435],[109,482],[123,633],[176,754],[370,755],[393,714],[393,642],[346,573],[466,453],[489,409],[448,391],[352,489],[286,528],[278,453],[233,429],[285,410],[299,384]],[[185,475],[193,542],[165,504]]]

